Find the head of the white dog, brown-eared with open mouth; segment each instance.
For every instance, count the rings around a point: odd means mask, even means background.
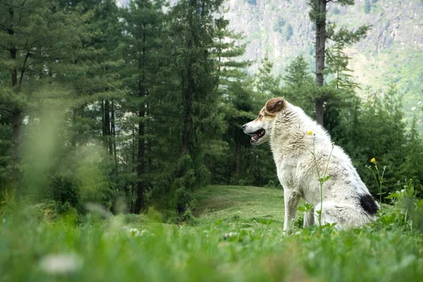
[[[276,114],[282,111],[284,106],[286,106],[286,102],[283,97],[270,99],[254,121],[243,125],[244,132],[251,135],[250,143],[252,145],[260,145],[270,140],[270,132]]]

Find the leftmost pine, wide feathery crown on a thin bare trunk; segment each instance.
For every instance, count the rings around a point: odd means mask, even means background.
[[[13,178],[19,188],[21,126],[23,113],[34,107],[39,87],[56,80],[80,44],[78,13],[66,13],[55,1],[0,3],[0,66],[8,70],[10,84],[0,104],[11,114]],[[20,191],[18,190],[18,195]]]

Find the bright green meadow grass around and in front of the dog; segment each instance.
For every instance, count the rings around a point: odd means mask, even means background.
[[[282,195],[209,186],[195,194],[196,226],[159,223],[151,211],[75,224],[48,220],[45,208],[6,207],[1,281],[422,281],[422,235],[375,223],[283,237]],[[64,270],[54,272],[47,259],[57,254]]]

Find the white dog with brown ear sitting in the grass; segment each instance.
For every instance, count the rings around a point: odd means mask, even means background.
[[[336,223],[338,229],[362,226],[375,219],[379,204],[350,157],[341,147],[332,145],[326,130],[298,106],[280,97],[270,99],[243,130],[252,135],[252,145],[270,142],[285,198],[284,232],[292,232],[300,197],[314,207],[305,214],[304,227],[318,225],[320,213],[322,225]],[[324,176],[329,179],[323,183],[320,201],[319,177]]]

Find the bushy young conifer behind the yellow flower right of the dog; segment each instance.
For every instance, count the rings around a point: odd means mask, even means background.
[[[367,103],[360,115],[360,127],[353,134],[357,135],[357,148],[361,157],[358,171],[369,189],[376,194],[377,188],[373,176],[364,168],[369,159],[376,158],[378,164],[386,166],[384,192],[395,190],[398,181],[398,169],[405,161],[405,123],[400,97],[393,86],[389,87],[380,98],[378,93],[369,94]]]

